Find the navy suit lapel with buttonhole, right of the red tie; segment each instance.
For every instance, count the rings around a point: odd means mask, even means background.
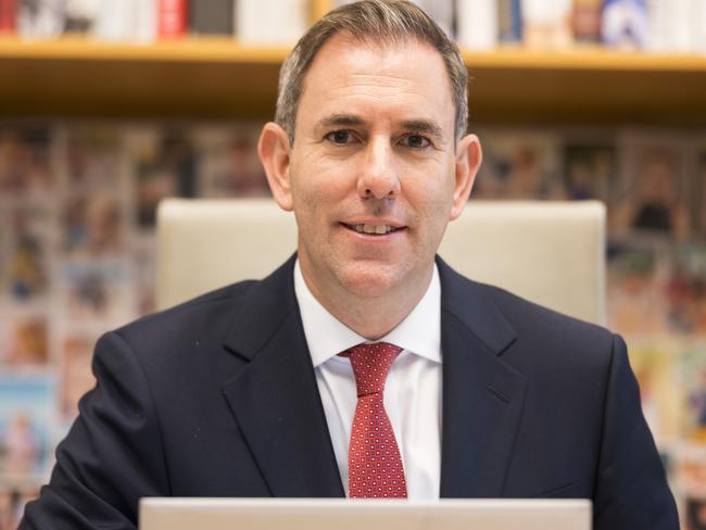
[[[484,289],[441,260],[442,497],[499,497],[527,386],[501,354],[515,331]]]

